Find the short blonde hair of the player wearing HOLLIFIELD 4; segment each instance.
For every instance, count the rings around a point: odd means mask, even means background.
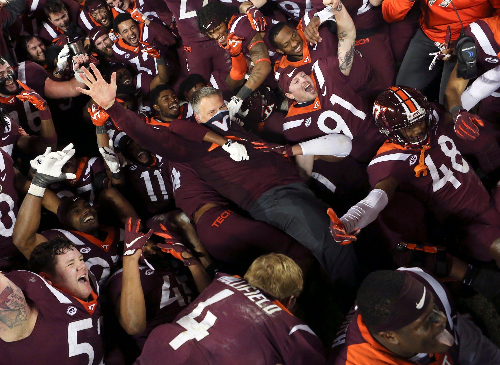
[[[281,253],[269,253],[257,257],[243,277],[283,302],[302,291],[302,270],[290,257]]]

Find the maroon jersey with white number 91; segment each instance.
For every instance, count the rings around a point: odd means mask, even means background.
[[[361,162],[369,161],[385,138],[375,126],[371,113],[366,113],[364,101],[349,87],[350,75],[340,72],[338,58],[330,56],[314,63],[311,77],[317,96],[306,106],[292,103],[283,123],[285,138],[301,142],[342,133],[352,140],[350,155]]]

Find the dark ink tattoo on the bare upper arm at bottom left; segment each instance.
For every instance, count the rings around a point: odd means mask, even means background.
[[[7,285],[0,293],[0,322],[12,329],[27,319],[27,303],[22,291]]]

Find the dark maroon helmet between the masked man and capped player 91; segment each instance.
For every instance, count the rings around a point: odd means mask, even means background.
[[[268,87],[259,86],[244,99],[239,114],[245,117],[245,122],[250,119],[260,123],[271,115],[276,107],[276,96]]]

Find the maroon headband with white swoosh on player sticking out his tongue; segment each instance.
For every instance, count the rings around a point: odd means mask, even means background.
[[[392,303],[389,315],[382,323],[373,326],[373,330],[380,332],[401,329],[417,320],[427,310],[431,299],[430,290],[409,273],[404,274],[404,283]]]

